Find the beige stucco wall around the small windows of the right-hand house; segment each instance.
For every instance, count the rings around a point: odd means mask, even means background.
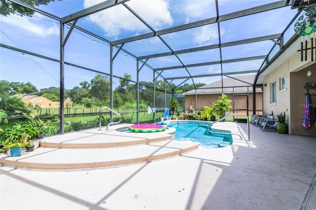
[[[315,56],[315,54],[314,54]],[[310,50],[308,51],[308,59],[311,58]],[[297,107],[291,106],[291,101],[293,103],[297,103],[298,100],[301,100],[301,96],[304,96],[304,85],[301,86],[294,86],[296,80],[299,80],[299,78],[295,78],[295,74],[290,75],[291,72],[297,72],[302,69],[305,69],[306,67],[312,65],[314,62],[303,61],[301,62],[301,54],[300,52],[295,53],[293,56],[291,56],[288,60],[283,62],[281,65],[279,65],[275,70],[270,72],[268,75],[266,75],[264,83],[267,84],[267,86],[263,86],[263,112],[264,114],[268,114],[271,110],[274,112],[274,116],[277,119],[276,115],[285,111],[285,106],[287,107],[288,111],[286,112],[286,120],[289,127],[289,134],[298,134],[298,135],[309,135],[306,132],[302,132],[300,126],[302,125],[302,118],[303,118],[303,112],[301,110],[297,109]],[[314,77],[313,80],[316,80],[316,73],[314,70],[314,74],[312,77]],[[287,89],[280,90],[280,78],[283,76],[287,76],[288,78],[288,87]],[[306,83],[306,80],[302,79],[302,83]],[[295,80],[295,81],[292,81]],[[276,81],[276,103],[271,103],[271,83]],[[315,82],[315,81],[314,81]],[[295,91],[294,91],[295,90]],[[291,93],[293,91],[293,93]],[[305,101],[303,102],[305,103]],[[282,105],[283,104],[283,105]],[[284,106],[285,105],[285,106]],[[292,108],[294,108],[292,110]],[[294,112],[298,112],[294,116],[291,116]],[[292,125],[292,123],[294,123]],[[301,125],[299,125],[301,124]]]

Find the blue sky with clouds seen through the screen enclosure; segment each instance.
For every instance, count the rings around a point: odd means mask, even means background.
[[[55,1],[49,3],[47,6],[40,6],[40,9],[63,17],[101,1]],[[227,14],[271,2],[274,1],[220,0],[219,13],[220,15]],[[127,4],[155,30],[216,16],[215,1],[213,0],[130,0]],[[281,33],[296,12],[296,9],[291,10],[290,6],[287,6],[265,13],[221,22],[221,41],[230,42]],[[122,5],[79,19],[77,25],[109,40],[117,40],[151,32]],[[59,59],[59,23],[57,21],[38,13],[34,14],[33,18],[19,17],[17,15],[1,16],[0,29],[5,34],[0,34],[1,43],[13,47],[17,47],[18,45],[24,50]],[[65,27],[65,32],[67,32],[67,27]],[[285,41],[290,38],[291,34],[286,35]],[[162,38],[173,50],[219,43],[217,24],[162,35]],[[266,55],[272,46],[272,41],[262,41],[225,47],[222,48],[222,59],[229,60]],[[136,56],[170,52],[158,37],[126,43],[124,49]],[[65,61],[109,73],[109,52],[109,44],[74,30],[65,46]],[[39,89],[59,85],[58,63],[32,57],[37,64],[27,55],[5,48],[0,48],[0,55],[0,79],[19,82],[30,81]],[[219,49],[181,54],[179,58],[184,64],[220,60]],[[224,64],[223,72],[258,70],[262,62],[262,60],[255,60]],[[175,56],[150,59],[148,64],[154,68],[181,65]],[[220,65],[189,68],[188,70],[190,70],[192,75],[219,73]],[[135,59],[126,56],[124,53],[119,53],[114,61],[114,74],[123,76],[125,72],[131,74],[132,79],[136,80]],[[65,65],[65,87],[71,89],[74,86],[79,86],[79,82],[84,80],[90,81],[95,75],[96,73],[94,72]],[[188,76],[188,73],[185,69],[177,69],[165,70],[162,75],[165,77]],[[152,78],[153,72],[149,68],[141,70],[140,80],[152,81]],[[195,78],[194,81],[210,83],[217,79],[217,77]],[[175,80],[174,82],[180,84],[182,81]],[[192,80],[190,79],[188,82],[192,83]],[[118,82],[116,82],[117,84]]]

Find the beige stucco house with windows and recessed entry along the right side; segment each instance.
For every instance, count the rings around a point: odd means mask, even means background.
[[[310,37],[315,37],[310,35]],[[311,50],[308,50],[307,61],[303,52],[301,61],[301,42],[305,49],[305,41],[309,40],[307,48],[311,47],[309,38],[295,37],[284,45],[282,53],[277,53],[270,58],[269,65],[260,71],[256,84],[263,85],[263,107],[264,113],[273,110],[274,115],[279,114],[287,108],[286,123],[289,127],[289,134],[316,136],[315,122],[310,129],[303,127],[303,112],[306,100],[304,86],[308,82],[316,82],[315,49],[314,61],[311,61]],[[315,41],[314,41],[315,46]],[[309,74],[308,72],[311,72]],[[316,94],[316,90],[310,90],[310,94]],[[316,105],[316,96],[311,95],[313,109]],[[314,113],[315,114],[315,113]],[[276,117],[275,117],[276,118]],[[277,118],[276,118],[277,119]]]

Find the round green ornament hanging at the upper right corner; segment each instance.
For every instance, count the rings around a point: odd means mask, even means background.
[[[294,25],[297,35],[310,35],[316,31],[316,10],[305,12]]]

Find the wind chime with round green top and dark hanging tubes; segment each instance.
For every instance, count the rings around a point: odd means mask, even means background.
[[[294,25],[294,31],[299,36],[311,35],[316,32],[316,10],[310,10],[304,13]],[[311,38],[311,47],[307,48],[307,40],[305,40],[305,48],[301,42],[301,61],[303,61],[303,51],[305,52],[305,61],[307,61],[307,50],[311,50],[311,61],[314,61],[314,40]]]

